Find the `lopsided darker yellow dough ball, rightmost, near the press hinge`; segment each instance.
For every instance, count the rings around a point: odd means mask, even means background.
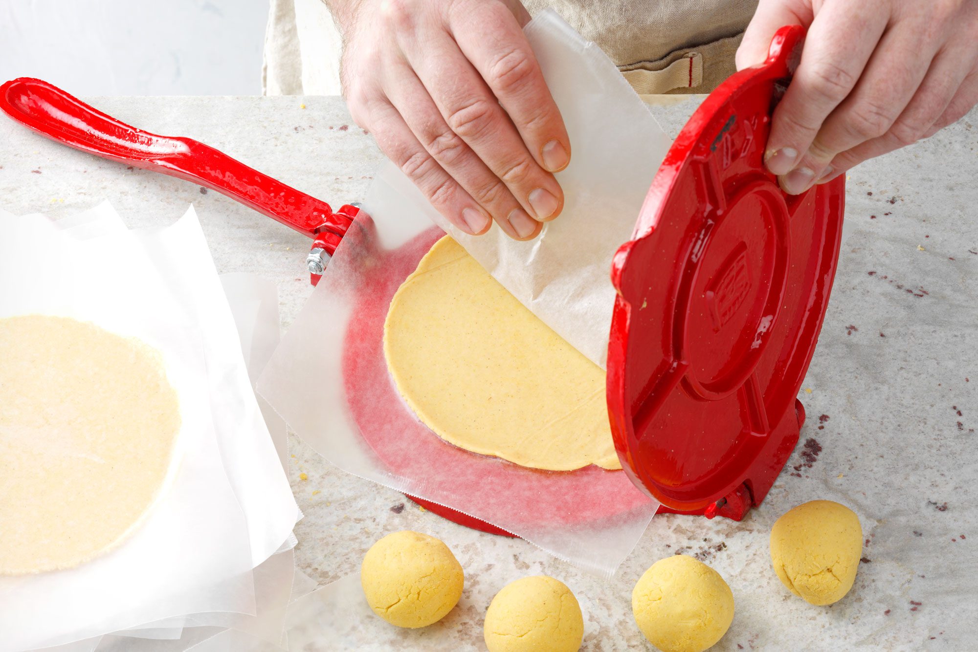
[[[862,553],[859,517],[831,500],[800,504],[771,529],[771,561],[781,584],[812,604],[832,604],[849,592]]]

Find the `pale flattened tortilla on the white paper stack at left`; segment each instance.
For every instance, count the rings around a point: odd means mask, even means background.
[[[0,320],[0,575],[77,566],[156,499],[180,431],[162,358],[62,317]]]

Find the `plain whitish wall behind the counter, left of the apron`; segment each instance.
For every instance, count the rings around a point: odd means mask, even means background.
[[[0,82],[72,95],[258,95],[268,0],[0,0]]]

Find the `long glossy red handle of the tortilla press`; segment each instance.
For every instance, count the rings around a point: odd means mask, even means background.
[[[22,125],[82,152],[192,181],[240,201],[310,238],[333,242],[351,220],[330,204],[190,138],[156,136],[93,109],[40,79],[0,86],[0,109]],[[333,246],[330,247],[331,249]],[[329,253],[333,253],[331,250]]]

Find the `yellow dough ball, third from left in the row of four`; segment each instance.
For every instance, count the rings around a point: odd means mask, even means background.
[[[685,554],[660,559],[632,591],[635,622],[663,652],[700,652],[733,622],[733,592],[715,570]]]

